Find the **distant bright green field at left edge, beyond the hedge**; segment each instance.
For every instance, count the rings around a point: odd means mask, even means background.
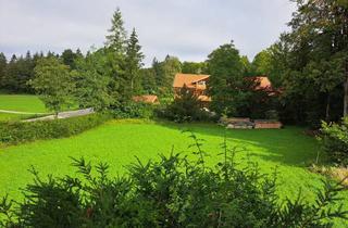
[[[0,110],[48,113],[38,97],[30,94],[0,94]]]

